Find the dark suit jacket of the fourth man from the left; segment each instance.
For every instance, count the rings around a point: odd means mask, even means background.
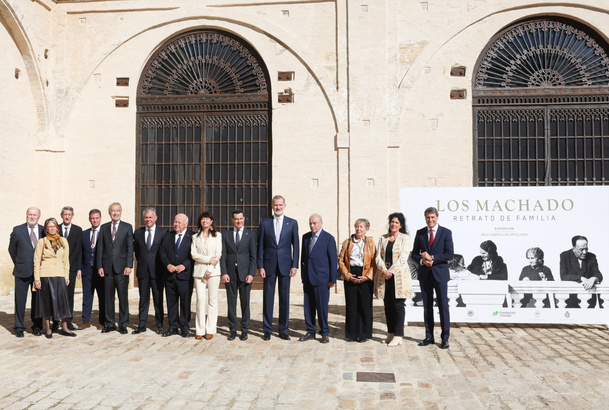
[[[112,242],[112,222],[106,222],[99,230],[96,246],[97,268],[104,274],[112,270],[123,273],[125,268],[133,268],[133,228],[131,224],[120,221],[116,237]]]

